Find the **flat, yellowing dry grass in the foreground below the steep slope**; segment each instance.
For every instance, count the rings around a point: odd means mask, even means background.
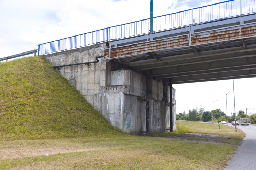
[[[10,141],[9,141],[10,142]],[[59,153],[26,154],[1,160],[0,169],[220,169],[235,146],[126,136],[94,139],[30,140],[1,143],[8,150],[40,151],[56,147]],[[67,145],[67,147],[65,147]],[[2,149],[3,147],[1,147]],[[73,150],[72,150],[73,149]],[[78,152],[78,149],[85,149]],[[87,149],[87,150],[86,150]],[[34,152],[36,152],[35,150]],[[63,153],[68,151],[68,153]]]

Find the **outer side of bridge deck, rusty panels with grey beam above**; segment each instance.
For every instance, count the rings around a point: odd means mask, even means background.
[[[110,48],[104,50],[104,59],[132,57],[161,50],[175,50],[181,47],[187,48],[256,37],[254,18],[256,15],[242,18],[242,21],[247,22],[247,24],[241,24],[241,17],[237,17],[200,24],[200,26],[187,26],[138,38],[113,41],[110,42]],[[253,22],[248,23],[250,21]]]

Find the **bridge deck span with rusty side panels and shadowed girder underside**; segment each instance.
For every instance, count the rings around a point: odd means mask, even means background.
[[[255,77],[256,24],[238,24],[109,48],[105,60],[172,84]]]

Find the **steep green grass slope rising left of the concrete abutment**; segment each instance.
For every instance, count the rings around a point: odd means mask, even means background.
[[[42,57],[0,63],[0,120],[7,140],[121,133]]]

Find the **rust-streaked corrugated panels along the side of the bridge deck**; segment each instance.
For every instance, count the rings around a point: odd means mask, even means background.
[[[205,44],[218,41],[227,41],[239,39],[243,37],[256,36],[256,26],[248,26],[243,28],[236,28],[232,30],[210,31],[203,33],[191,34],[191,44]],[[167,48],[189,46],[188,35],[155,40],[151,42],[143,42],[124,47],[111,48],[111,58],[122,57],[133,54],[140,54],[154,50],[162,50]],[[109,57],[109,49],[104,50],[105,58]]]

